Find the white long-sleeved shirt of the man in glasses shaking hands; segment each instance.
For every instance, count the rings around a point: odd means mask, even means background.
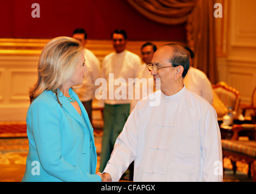
[[[153,95],[156,105],[150,98],[136,105],[104,172],[119,181],[134,160],[135,182],[223,181],[220,128],[212,105],[185,87],[173,96],[161,90]]]

